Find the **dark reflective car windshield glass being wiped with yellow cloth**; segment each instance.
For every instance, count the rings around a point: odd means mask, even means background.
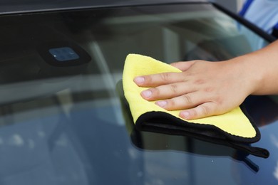
[[[209,4],[0,16],[0,24],[0,184],[277,184],[277,97],[246,102],[262,134],[252,145],[269,149],[268,159],[138,132],[120,102],[128,53],[171,63],[254,50],[248,37],[261,38]],[[56,64],[48,51],[63,47],[79,58]]]

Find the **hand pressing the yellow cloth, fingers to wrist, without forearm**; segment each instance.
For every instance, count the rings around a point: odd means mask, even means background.
[[[238,58],[222,62],[192,60],[172,64],[182,73],[139,76],[134,82],[149,88],[145,100],[165,110],[181,110],[180,117],[192,120],[220,115],[240,105],[252,93],[252,80]]]

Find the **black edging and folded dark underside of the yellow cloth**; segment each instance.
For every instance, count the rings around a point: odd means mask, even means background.
[[[242,106],[241,109],[244,114],[247,115],[247,112]],[[194,137],[195,139],[200,139],[206,142],[223,144],[228,147],[240,149],[257,157],[269,157],[269,151],[267,149],[250,146],[251,143],[259,141],[260,133],[257,125],[254,125],[254,122],[252,122],[252,119],[250,119],[248,115],[247,117],[257,133],[256,136],[252,138],[242,138],[229,134],[214,125],[186,122],[185,120],[180,120],[165,112],[146,112],[145,114],[140,115],[135,122],[135,128],[146,132]]]

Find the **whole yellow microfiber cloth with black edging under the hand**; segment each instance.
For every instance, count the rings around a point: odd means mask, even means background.
[[[266,149],[249,146],[250,143],[259,141],[260,133],[242,106],[223,115],[183,120],[179,117],[179,110],[168,111],[155,105],[153,101],[143,99],[140,93],[147,88],[138,87],[133,79],[140,75],[166,72],[181,71],[148,56],[137,54],[127,56],[123,70],[123,91],[137,129],[191,136],[243,149],[258,157],[269,157]]]

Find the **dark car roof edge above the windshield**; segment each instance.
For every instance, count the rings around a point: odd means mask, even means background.
[[[144,4],[204,3],[206,0],[4,0],[1,1],[0,14],[19,14],[37,11],[56,11],[67,9],[88,9],[109,6],[136,6]]]

